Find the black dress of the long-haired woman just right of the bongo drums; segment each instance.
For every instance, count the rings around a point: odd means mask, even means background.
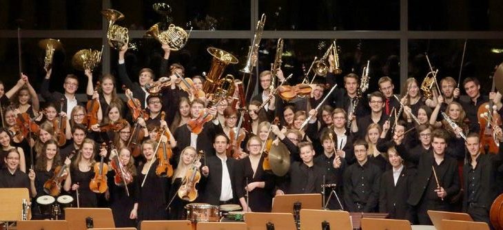
[[[89,182],[94,178],[94,171],[81,171],[78,168],[72,167],[72,184],[79,184],[79,205],[80,207],[97,207],[98,198],[94,192],[89,188]],[[72,191],[72,196],[75,200],[74,207],[76,207],[76,191]]]

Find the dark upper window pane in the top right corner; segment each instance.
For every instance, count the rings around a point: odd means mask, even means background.
[[[409,30],[503,30],[500,0],[409,1]]]

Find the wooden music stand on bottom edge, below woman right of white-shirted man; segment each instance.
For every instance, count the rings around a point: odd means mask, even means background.
[[[245,213],[245,223],[248,230],[268,229],[267,225],[269,224],[272,225],[272,229],[276,230],[296,229],[294,215],[291,213],[247,212]]]

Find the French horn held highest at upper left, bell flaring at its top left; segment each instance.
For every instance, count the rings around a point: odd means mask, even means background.
[[[115,50],[121,50],[124,44],[130,42],[130,36],[127,34],[129,30],[121,25],[116,25],[115,21],[124,19],[124,14],[113,9],[101,10],[101,14],[108,19],[108,44]],[[128,49],[136,49],[136,45],[130,44]]]

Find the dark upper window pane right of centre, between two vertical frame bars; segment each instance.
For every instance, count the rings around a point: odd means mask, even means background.
[[[258,13],[265,30],[400,30],[399,0],[259,0]]]

